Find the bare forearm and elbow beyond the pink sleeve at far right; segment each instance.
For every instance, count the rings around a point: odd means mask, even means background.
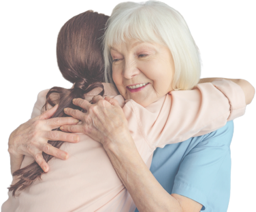
[[[204,83],[204,82],[212,82],[214,80],[218,79],[226,79],[226,80],[231,80],[232,82],[238,84],[244,92],[245,96],[245,101],[246,105],[250,105],[251,102],[253,101],[253,98],[255,96],[255,87],[248,82],[246,79],[232,79],[232,78],[223,78],[223,77],[204,77],[199,80],[199,83]]]

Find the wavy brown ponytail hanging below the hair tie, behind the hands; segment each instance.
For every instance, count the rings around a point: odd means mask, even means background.
[[[67,114],[63,112],[63,109],[66,107],[70,107],[72,109],[81,110],[82,108],[74,105],[72,103],[72,100],[76,98],[84,99],[84,94],[90,92],[94,88],[102,88],[102,91],[98,95],[103,96],[104,94],[103,84],[101,84],[100,82],[94,82],[93,84],[89,85],[87,84],[86,79],[78,79],[78,81],[75,83],[74,88],[70,88],[70,89],[61,88],[61,87],[52,87],[48,91],[48,94],[46,95],[46,104],[44,105],[42,110],[46,109],[47,104],[54,107],[54,105],[57,105],[57,103],[59,103],[59,107],[57,111],[54,113],[54,115],[52,116],[52,118],[67,117]],[[52,100],[51,94],[53,93],[58,94],[59,99]],[[55,130],[59,130],[59,128]],[[64,142],[48,141],[48,143],[50,143],[50,145],[52,145],[53,147],[56,147],[59,149]],[[48,162],[53,158],[53,156],[46,154],[44,152],[42,153],[42,155],[44,160],[46,160],[46,162]],[[32,164],[15,171],[14,176],[18,176],[19,179],[17,183],[10,186],[9,188],[9,191],[12,192],[12,196],[18,196],[18,195],[15,195],[16,191],[25,190],[25,188],[30,186],[31,183],[33,183],[33,181],[35,181],[36,179],[41,179],[42,174],[44,174],[44,171],[41,169],[39,164],[37,164],[37,162],[33,162]]]

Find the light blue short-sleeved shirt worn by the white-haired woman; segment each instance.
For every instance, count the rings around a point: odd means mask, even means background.
[[[204,212],[227,212],[233,135],[230,121],[212,133],[157,148],[150,171],[169,194],[199,202]]]

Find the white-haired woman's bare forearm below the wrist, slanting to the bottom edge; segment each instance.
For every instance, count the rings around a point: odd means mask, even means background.
[[[182,211],[178,200],[168,194],[150,172],[135,144],[112,146],[106,152],[140,212]]]

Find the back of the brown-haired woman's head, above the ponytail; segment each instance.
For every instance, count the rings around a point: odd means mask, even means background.
[[[100,37],[109,16],[87,10],[63,24],[57,35],[56,57],[61,75],[68,82],[78,79],[103,82],[103,52]]]

